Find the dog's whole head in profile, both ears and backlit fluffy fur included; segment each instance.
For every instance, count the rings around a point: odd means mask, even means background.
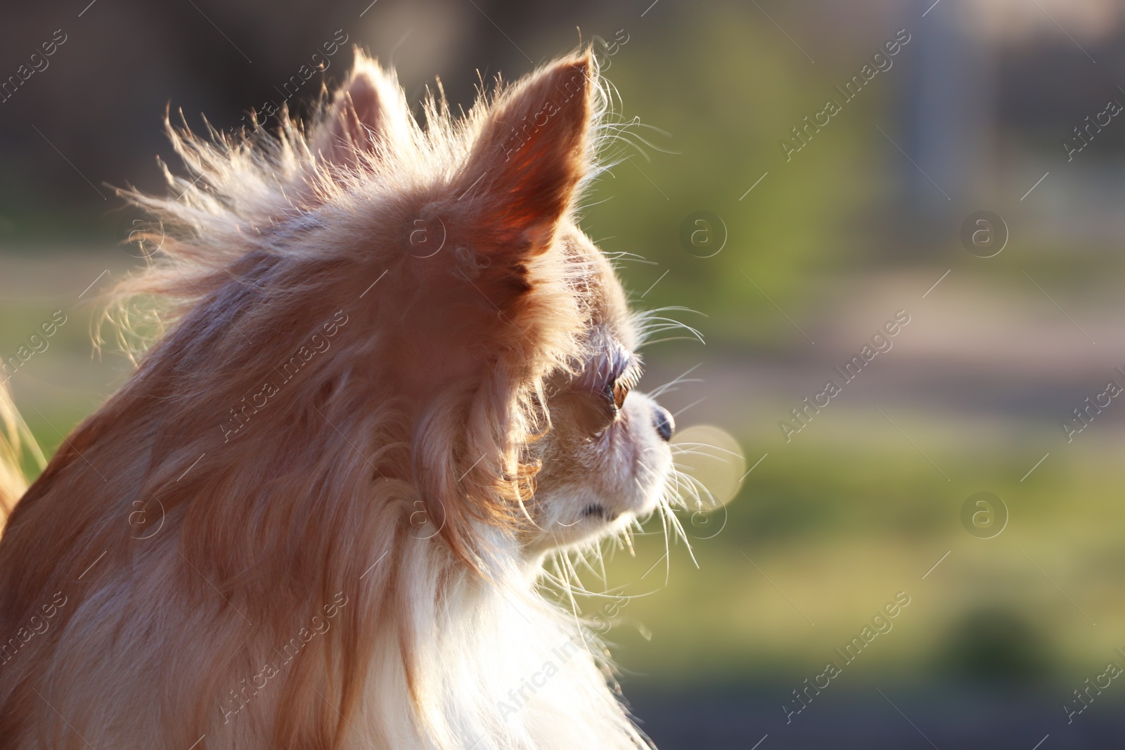
[[[135,196],[191,225],[173,256],[241,247],[190,284],[207,300],[190,315],[237,323],[228,360],[213,356],[243,382],[222,383],[227,400],[333,311],[348,316],[335,351],[224,436],[260,453],[274,440],[262,422],[312,424],[310,450],[339,443],[364,481],[397,488],[382,491],[408,523],[472,558],[482,527],[531,555],[620,531],[666,491],[673,419],[633,390],[634,318],[575,222],[604,133],[596,65],[575,55],[464,118],[434,99],[425,114],[422,127],[394,75],[358,55],[307,133],[218,145],[174,134],[205,179],[179,180],[180,201]],[[173,270],[163,281],[194,296]],[[260,341],[270,351],[244,351]],[[302,416],[314,406],[331,428]]]

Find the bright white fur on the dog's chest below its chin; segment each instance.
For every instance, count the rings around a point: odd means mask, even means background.
[[[395,658],[379,660],[382,674],[367,680],[363,702],[376,735],[388,726],[412,731],[403,722],[402,694],[386,690],[397,684],[413,692],[431,737],[446,738],[447,747],[644,747],[605,689],[602,644],[531,591],[519,557],[501,563],[496,579],[482,581],[434,548],[408,546],[414,549],[404,550],[403,560],[415,567],[410,580],[422,580],[425,570],[439,595],[411,597],[412,620],[399,633],[411,643],[396,643],[394,629],[387,631],[388,654],[413,651],[421,670],[407,679]]]

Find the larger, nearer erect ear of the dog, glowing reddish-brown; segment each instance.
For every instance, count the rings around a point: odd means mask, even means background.
[[[493,105],[457,186],[483,245],[516,253],[550,245],[590,166],[594,75],[590,54],[569,57]]]

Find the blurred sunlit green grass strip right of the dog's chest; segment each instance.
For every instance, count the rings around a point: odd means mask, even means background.
[[[819,671],[836,659],[834,648],[906,590],[911,604],[865,650],[864,668],[1017,678],[1104,665],[1123,645],[1125,626],[1119,448],[1044,463],[1035,482],[1020,484],[1026,455],[1002,449],[978,452],[975,464],[958,464],[957,481],[947,482],[909,444],[873,435],[822,440],[801,452],[748,445],[748,455],[770,449],[770,458],[728,506],[722,531],[694,540],[698,569],[680,543],[667,577],[664,562],[645,576],[664,553],[662,534],[639,539],[636,558],[614,554],[610,587],[646,594],[622,616],[654,633],[647,641],[623,622],[614,631],[622,659],[668,680]],[[938,463],[942,454],[933,454]],[[961,505],[978,489],[1010,510],[991,540],[960,525]],[[714,533],[686,517],[685,527]]]

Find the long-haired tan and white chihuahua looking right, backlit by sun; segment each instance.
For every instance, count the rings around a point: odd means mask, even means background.
[[[647,747],[538,588],[673,473],[575,223],[605,101],[584,52],[423,127],[357,53],[307,128],[169,128],[161,332],[0,489],[0,748]]]

